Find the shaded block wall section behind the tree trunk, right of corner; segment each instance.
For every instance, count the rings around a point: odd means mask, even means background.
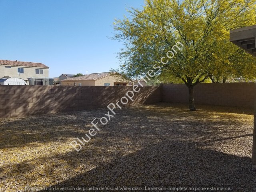
[[[254,108],[255,83],[202,83],[194,87],[195,104]],[[185,84],[163,84],[162,101],[188,103]]]

